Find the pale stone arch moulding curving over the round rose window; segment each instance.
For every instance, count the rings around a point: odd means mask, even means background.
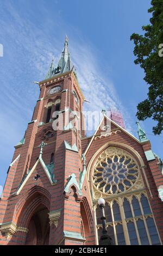
[[[135,149],[131,148],[129,145],[126,145],[126,144],[123,144],[123,143],[120,143],[120,142],[108,142],[108,143],[105,143],[92,156],[92,158],[91,158],[91,160],[90,160],[90,162],[89,162],[89,164],[87,166],[87,185],[90,188],[89,191],[92,191],[92,189],[93,189],[91,174],[92,174],[92,171],[93,171],[93,169],[95,167],[95,162],[98,159],[98,156],[100,154],[102,154],[102,152],[105,149],[107,149],[108,147],[122,148],[123,150],[128,151],[128,153],[135,158],[136,162],[139,164],[139,168],[142,169],[142,173],[141,174],[143,174],[143,178],[145,178],[148,191],[149,191],[151,197],[153,197],[152,196],[152,192],[151,192],[151,188],[149,186],[149,182],[148,182],[148,179],[147,179],[147,175],[146,175],[146,172],[145,172],[145,163],[144,163],[142,157],[140,156],[140,154]]]

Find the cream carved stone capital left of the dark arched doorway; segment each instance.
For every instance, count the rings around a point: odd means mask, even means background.
[[[6,222],[0,225],[0,231],[3,236],[6,236],[7,239],[15,234],[17,231],[22,231],[28,233],[27,228],[17,227],[14,222]]]

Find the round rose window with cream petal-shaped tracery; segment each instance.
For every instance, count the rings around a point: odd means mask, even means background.
[[[110,147],[96,162],[93,183],[103,193],[116,194],[129,190],[138,176],[139,170],[133,157],[126,150]]]

